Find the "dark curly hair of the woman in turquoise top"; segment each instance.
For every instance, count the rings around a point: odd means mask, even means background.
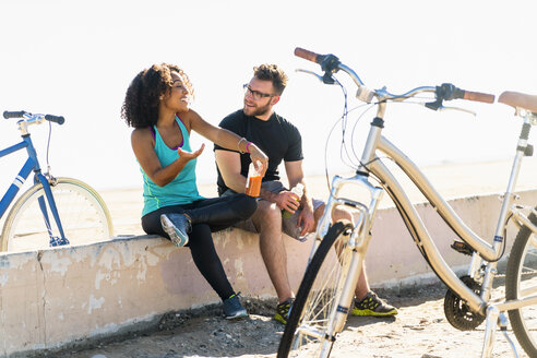
[[[127,90],[121,106],[121,118],[127,126],[146,128],[156,124],[160,99],[163,95],[170,93],[174,84],[171,72],[177,72],[190,94],[193,94],[192,83],[179,67],[168,63],[153,64],[140,71]]]

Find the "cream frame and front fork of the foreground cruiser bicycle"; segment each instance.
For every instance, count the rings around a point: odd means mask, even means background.
[[[384,138],[381,132],[383,128],[382,116],[384,114],[385,103],[379,104],[379,109],[377,117],[371,122],[369,135],[362,152],[361,163],[362,165],[357,170],[357,174],[350,178],[335,177],[332,184],[331,195],[326,203],[326,208],[323,216],[318,225],[317,240],[313,244],[312,252],[317,249],[319,240],[321,240],[327,231],[332,223],[332,210],[339,204],[348,205],[359,210],[359,219],[355,226],[354,232],[350,237],[349,247],[351,247],[357,253],[353,258],[351,266],[356,267],[357,273],[349,275],[348,282],[345,284],[344,293],[349,291],[350,295],[354,293],[351,287],[355,287],[356,279],[359,276],[359,271],[361,267],[361,262],[365,258],[367,246],[371,239],[370,229],[372,227],[372,220],[377,206],[381,199],[381,188],[372,186],[368,177],[371,174],[380,182],[381,187],[389,193],[395,203],[398,212],[401,213],[403,220],[405,222],[410,235],[413,236],[418,249],[422,252],[423,256],[428,261],[431,268],[437,273],[438,277],[454,293],[456,293],[462,299],[464,299],[467,305],[475,311],[480,312],[486,315],[487,310],[493,309],[496,311],[496,318],[498,318],[499,312],[506,310],[537,303],[537,295],[527,297],[524,299],[505,301],[504,298],[490,300],[492,290],[492,281],[494,274],[497,273],[497,260],[501,256],[502,246],[503,246],[503,231],[506,226],[506,218],[510,214],[516,218],[518,223],[526,225],[534,232],[537,232],[535,225],[513,205],[515,199],[514,188],[516,179],[520,172],[521,163],[524,157],[522,151],[517,151],[511,177],[509,180],[508,189],[505,195],[503,196],[502,206],[500,210],[500,217],[498,220],[496,234],[492,243],[487,242],[478,235],[476,235],[470,228],[468,228],[461,217],[453,211],[453,208],[446,203],[446,201],[437,192],[433,186],[425,177],[421,170],[394,144],[392,144],[386,138]],[[529,122],[529,115],[525,118],[525,123]],[[453,270],[443,260],[441,253],[439,252],[433,239],[429,235],[427,228],[425,227],[421,217],[411,204],[410,200],[405,193],[404,188],[399,184],[397,179],[393,176],[391,170],[384,165],[381,159],[381,155],[378,152],[382,152],[382,157],[387,157],[395,162],[395,164],[403,170],[403,172],[414,182],[414,184],[420,190],[420,192],[426,196],[426,199],[431,203],[431,205],[438,211],[442,219],[465,242],[467,242],[475,251],[474,260],[479,260],[477,255],[488,261],[485,266],[485,276],[481,286],[481,295],[476,295],[470,288],[468,288],[453,272]],[[368,189],[371,202],[369,205],[365,205],[348,199],[338,198],[339,190],[346,184],[358,184]],[[480,267],[480,264],[476,265],[473,263],[473,267]],[[353,271],[350,271],[353,272]],[[350,287],[350,289],[346,289]],[[537,294],[537,293],[524,293]],[[348,295],[346,295],[348,296]],[[338,311],[346,306],[345,302],[350,302],[351,299],[348,297],[342,297],[338,302]],[[334,312],[334,314],[337,314]],[[492,314],[492,317],[493,317]],[[339,321],[339,320],[336,320]],[[333,331],[338,332],[339,324],[337,322]],[[343,321],[344,323],[344,321]],[[489,323],[487,323],[489,325]],[[496,330],[496,321],[493,322]],[[493,333],[493,332],[492,332]]]

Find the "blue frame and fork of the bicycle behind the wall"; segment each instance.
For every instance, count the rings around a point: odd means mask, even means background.
[[[24,133],[24,134],[22,134],[22,139],[23,139],[22,142],[0,151],[0,157],[4,157],[7,155],[10,155],[14,152],[17,152],[17,151],[21,151],[24,148],[26,148],[26,152],[28,154],[28,157],[27,157],[26,162],[24,163],[23,167],[21,168],[21,170],[16,175],[15,179],[13,180],[13,182],[11,183],[11,186],[8,188],[4,195],[0,200],[0,218],[8,211],[8,207],[10,206],[11,202],[13,201],[13,199],[19,193],[19,190],[24,184],[24,182],[28,178],[29,174],[32,171],[34,171],[34,183],[37,184],[38,182],[40,182],[43,184],[43,189],[45,191],[45,195],[47,198],[48,205],[49,205],[50,211],[52,213],[53,219],[58,226],[58,230],[61,234],[61,240],[67,240],[65,235],[63,232],[63,227],[61,226],[60,216],[58,215],[58,210],[57,210],[56,202],[55,202],[55,199],[52,195],[52,191],[50,189],[49,181],[41,174],[41,169],[39,167],[39,162],[37,159],[37,154],[36,154],[36,151],[34,148],[34,144],[32,143],[32,139],[29,136],[29,133],[27,133],[27,131],[25,131],[24,124],[25,123],[23,121],[20,121],[20,123],[19,123],[20,129],[22,129],[22,132]],[[43,217],[45,219],[45,225],[48,228],[50,239],[52,239],[52,231],[50,229],[50,227],[51,227],[50,226],[50,219],[48,217],[46,203],[45,203],[45,200],[43,199],[43,196],[39,198],[39,207],[41,210]]]

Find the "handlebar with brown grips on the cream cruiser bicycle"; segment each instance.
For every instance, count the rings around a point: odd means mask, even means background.
[[[438,109],[440,108],[442,100],[451,100],[451,99],[466,99],[466,100],[474,100],[474,102],[482,102],[487,104],[494,103],[494,95],[461,90],[458,87],[455,87],[451,83],[444,83],[441,86],[437,86],[435,90],[434,87],[417,87],[411,91],[408,91],[403,95],[391,94],[385,88],[369,91],[365,88],[362,81],[353,71],[353,69],[343,64],[339,61],[339,59],[334,55],[319,55],[313,51],[297,47],[295,48],[295,56],[320,64],[322,70],[325,71],[326,73],[337,72],[338,70],[346,72],[348,75],[350,75],[350,77],[353,77],[353,80],[357,84],[359,88],[358,94],[368,93],[369,96],[366,97],[357,94],[358,99],[361,100],[368,97],[370,100],[372,96],[377,97],[379,100],[404,100],[406,98],[414,97],[418,93],[434,92],[437,96],[437,103],[434,103],[434,105],[432,106],[427,106],[428,108],[431,109]],[[365,102],[369,103],[369,100],[365,100]]]

